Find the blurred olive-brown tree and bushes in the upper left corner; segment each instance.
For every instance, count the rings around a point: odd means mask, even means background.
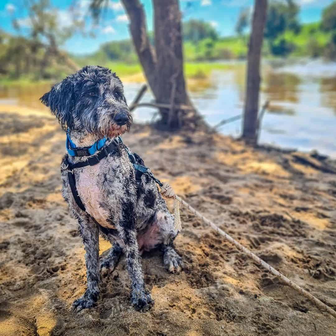
[[[25,23],[13,17],[12,23],[18,33],[25,36],[9,36],[0,41],[1,72],[8,78],[30,76],[32,79],[52,78],[55,73],[75,68],[67,53],[59,50],[67,39],[82,27],[74,19],[66,26],[59,25],[57,10],[49,0],[32,0],[24,3],[28,12]]]

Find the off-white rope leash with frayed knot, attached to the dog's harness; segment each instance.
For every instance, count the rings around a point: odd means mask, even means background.
[[[237,246],[237,248],[244,253],[246,253],[249,257],[251,257],[256,263],[263,266],[265,269],[269,270],[272,274],[279,277],[283,282],[285,282],[288,286],[292,287],[299,293],[301,293],[303,296],[305,296],[307,299],[315,303],[319,308],[327,310],[334,318],[336,318],[336,311],[326,304],[324,304],[321,300],[316,298],[315,296],[311,295],[309,292],[295,284],[293,281],[285,277],[283,274],[281,274],[279,271],[277,271],[275,268],[273,268],[271,265],[267,264],[267,262],[260,259],[257,255],[255,255],[253,252],[251,252],[249,249],[238,243],[235,239],[233,239],[230,235],[225,233],[222,229],[220,229],[215,223],[213,223],[211,220],[205,218],[201,213],[199,213],[197,210],[195,210],[192,206],[190,206],[187,202],[183,201],[179,196],[177,196],[173,190],[173,188],[168,183],[163,183],[163,186],[161,187],[161,194],[164,197],[167,198],[174,198],[174,213],[175,213],[175,226],[178,231],[181,230],[181,219],[180,219],[180,211],[179,211],[179,203],[185,205],[194,215],[201,218],[204,222],[209,224],[214,230],[216,230],[220,235],[224,236],[226,240],[228,240],[230,243]]]

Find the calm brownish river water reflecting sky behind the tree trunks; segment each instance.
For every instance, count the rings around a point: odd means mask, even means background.
[[[244,104],[244,65],[214,71],[207,82],[193,83],[191,97],[205,120],[215,125],[242,113]],[[265,65],[262,75],[261,104],[270,100],[260,134],[260,143],[271,143],[302,151],[318,150],[336,157],[336,64],[310,62],[305,65],[274,68]],[[132,101],[140,83],[125,83],[126,98]],[[41,108],[38,98],[49,84],[0,88],[0,105]],[[142,101],[152,100],[147,93]],[[155,118],[155,110],[141,108],[134,120]],[[220,128],[223,134],[238,136],[241,121]]]

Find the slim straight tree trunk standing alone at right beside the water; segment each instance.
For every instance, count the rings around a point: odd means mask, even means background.
[[[260,87],[260,54],[266,22],[267,0],[255,0],[252,31],[250,35],[246,100],[244,109],[242,138],[249,144],[257,142],[257,117]]]

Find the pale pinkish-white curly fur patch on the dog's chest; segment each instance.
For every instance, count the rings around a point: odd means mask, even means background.
[[[110,166],[113,169],[113,164]],[[77,190],[81,198],[86,212],[90,214],[101,226],[107,228],[115,228],[115,226],[108,221],[111,210],[102,206],[106,202],[107,191],[103,185],[104,176],[109,176],[111,169],[106,169],[104,165],[98,163],[94,166],[87,166],[79,173]],[[109,176],[113,179],[114,176]],[[115,181],[114,184],[118,184]]]

